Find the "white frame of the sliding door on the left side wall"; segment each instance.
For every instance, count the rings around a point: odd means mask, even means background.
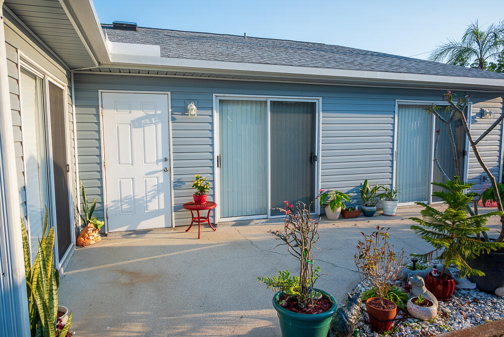
[[[45,119],[45,132],[46,132],[46,139],[45,139],[45,146],[46,146],[46,153],[47,153],[47,164],[48,164],[48,188],[49,188],[49,205],[47,205],[47,208],[49,210],[49,213],[52,214],[49,217],[49,226],[54,227],[56,224],[56,205],[54,202],[54,172],[53,172],[53,160],[52,160],[52,133],[51,133],[51,116],[50,116],[50,105],[49,105],[49,82],[56,85],[57,87],[61,88],[64,91],[63,94],[63,104],[64,104],[64,118],[65,118],[65,125],[67,126],[65,128],[65,146],[66,146],[66,154],[67,154],[67,163],[72,166],[72,160],[71,160],[71,154],[70,154],[70,130],[68,128],[70,122],[69,122],[69,111],[68,111],[68,96],[69,96],[69,90],[68,90],[68,85],[61,80],[59,80],[57,77],[52,75],[49,71],[47,71],[45,68],[40,66],[38,63],[33,61],[31,58],[29,58],[26,54],[24,54],[21,50],[18,49],[18,79],[21,80],[21,68],[24,68],[28,72],[31,72],[32,74],[42,78],[43,80],[43,104],[44,104],[44,119]],[[21,93],[20,93],[20,102],[21,102]],[[23,128],[23,112],[21,111],[21,128]],[[74,130],[74,132],[77,132]],[[22,133],[23,134],[23,133]],[[22,141],[23,141],[23,148],[24,148],[24,138],[22,135]],[[77,144],[74,144],[74,146],[77,146]],[[23,150],[24,152],[24,150]],[[23,169],[26,172],[26,162],[23,161]],[[55,261],[55,266],[59,269],[62,270],[64,265],[70,261],[70,256],[73,254],[74,249],[75,249],[75,210],[76,210],[76,205],[74,204],[74,199],[72,197],[72,179],[71,179],[71,172],[70,170],[67,172],[67,185],[69,186],[68,189],[68,199],[69,199],[69,208],[70,208],[70,226],[72,227],[71,231],[71,244],[69,249],[65,252],[63,257],[59,259],[59,252],[58,252],[58,240],[57,240],[57,230],[55,228],[54,230],[54,248],[53,248],[53,255],[54,255],[54,261]],[[26,175],[25,175],[25,186],[26,186]],[[77,193],[77,190],[76,190]],[[28,220],[29,221],[29,220]],[[56,224],[57,227],[57,224]]]

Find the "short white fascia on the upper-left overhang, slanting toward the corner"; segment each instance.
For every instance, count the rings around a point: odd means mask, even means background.
[[[69,9],[77,24],[76,30],[84,38],[83,43],[91,49],[98,64],[110,64],[110,50],[105,43],[98,14],[92,0],[59,0],[61,6]]]

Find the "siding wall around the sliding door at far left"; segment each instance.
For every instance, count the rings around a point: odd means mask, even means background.
[[[16,151],[16,168],[19,187],[19,204],[21,208],[21,216],[26,221],[26,194],[25,194],[25,177],[24,177],[24,158],[23,158],[23,143],[22,143],[22,119],[21,119],[21,104],[19,99],[19,64],[18,52],[19,49],[28,58],[36,62],[40,67],[44,68],[53,77],[67,85],[68,105],[67,114],[69,120],[69,139],[68,145],[71,153],[71,186],[73,209],[77,205],[78,185],[76,182],[76,165],[75,165],[75,147],[74,147],[74,127],[73,127],[73,109],[72,109],[72,87],[70,80],[70,71],[60,63],[52,53],[42,45],[33,34],[25,29],[15,18],[7,11],[4,11],[5,17],[5,39],[7,49],[7,67],[9,75],[9,90],[11,98],[11,113],[13,121],[14,142]],[[75,214],[76,221],[79,223],[77,212]]]

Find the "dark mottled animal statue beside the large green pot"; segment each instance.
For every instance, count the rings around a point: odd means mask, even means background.
[[[333,315],[333,319],[329,325],[329,335],[334,337],[351,336],[359,321],[361,304],[360,293],[354,296],[348,295],[348,303],[338,308]]]

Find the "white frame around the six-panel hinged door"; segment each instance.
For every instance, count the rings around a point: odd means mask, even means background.
[[[125,93],[125,94],[158,94],[166,95],[168,99],[168,148],[170,156],[170,212],[171,212],[171,227],[175,228],[175,203],[173,197],[173,141],[171,132],[171,92],[170,91],[143,91],[143,90],[98,90],[98,106],[100,115],[100,151],[101,151],[101,172],[103,177],[103,212],[105,220],[105,233],[108,233],[108,204],[107,204],[107,171],[105,163],[105,139],[104,135],[104,123],[103,123],[103,93]]]

